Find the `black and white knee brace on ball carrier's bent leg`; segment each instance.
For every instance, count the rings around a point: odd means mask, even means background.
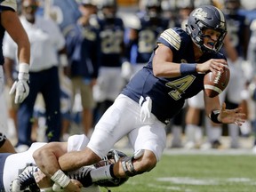
[[[137,172],[134,169],[133,166],[133,160],[140,159],[141,156],[144,154],[144,149],[140,149],[139,151],[135,152],[133,156],[125,156],[124,158],[121,159],[121,164],[124,170],[124,173],[126,174],[127,177],[133,177],[137,174],[141,174],[142,172]]]

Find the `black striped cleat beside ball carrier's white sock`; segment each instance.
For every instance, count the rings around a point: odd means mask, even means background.
[[[68,176],[70,179],[80,181],[83,184],[83,187],[86,188],[92,185],[92,178],[90,175],[91,170],[91,167],[83,166],[74,172],[68,172]]]

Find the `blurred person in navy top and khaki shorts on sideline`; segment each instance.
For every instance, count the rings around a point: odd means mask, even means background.
[[[68,56],[70,61],[70,77],[72,81],[73,98],[81,97],[82,124],[84,134],[92,131],[92,109],[95,102],[92,87],[96,84],[100,59],[99,28],[94,26],[96,4],[92,0],[79,3],[82,16],[76,21],[75,27],[66,36]]]

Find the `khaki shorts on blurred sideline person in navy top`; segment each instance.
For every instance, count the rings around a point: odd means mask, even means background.
[[[83,108],[95,108],[95,101],[92,96],[92,86],[84,81],[83,77],[72,77],[72,91],[81,94],[81,103]]]

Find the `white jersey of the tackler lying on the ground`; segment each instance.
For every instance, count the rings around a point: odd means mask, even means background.
[[[74,135],[68,138],[68,152],[69,151],[77,151],[82,150],[86,147],[88,143],[88,138],[85,135]],[[8,156],[4,163],[4,173],[3,173],[3,182],[4,182],[4,190],[5,192],[10,191],[10,186],[12,180],[18,177],[20,172],[28,166],[29,164],[35,164],[33,153],[36,149],[41,148],[45,145],[44,142],[35,142],[31,145],[28,151],[12,154]],[[93,188],[92,188],[93,187]],[[98,186],[92,186],[90,189],[86,190],[84,188],[83,191],[99,191]],[[95,189],[95,190],[94,190]]]

